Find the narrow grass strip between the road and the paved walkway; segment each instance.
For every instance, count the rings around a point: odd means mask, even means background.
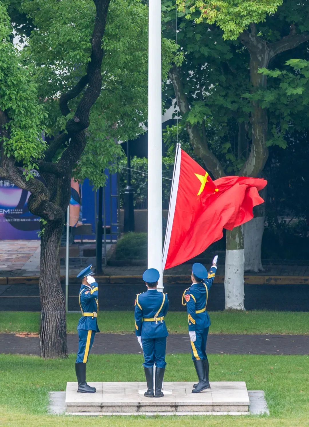
[[[67,315],[68,333],[76,333],[79,313]],[[244,311],[210,313],[210,333],[230,334],[309,334],[309,312]],[[166,316],[169,333],[187,333],[187,314],[170,312]],[[134,313],[102,311],[99,329],[104,333],[134,333]],[[0,333],[33,332],[40,328],[40,313],[0,311]]]

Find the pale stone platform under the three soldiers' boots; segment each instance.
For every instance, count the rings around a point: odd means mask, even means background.
[[[67,383],[65,409],[74,415],[247,415],[245,382],[210,382],[210,389],[192,393],[193,383],[164,382],[163,398],[145,398],[145,383],[89,383],[96,393],[77,393]]]

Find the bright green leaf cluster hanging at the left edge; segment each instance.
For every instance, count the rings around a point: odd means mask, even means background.
[[[34,67],[25,64],[23,57],[8,35],[12,30],[3,4],[0,5],[0,109],[6,111],[9,122],[2,136],[5,153],[22,162],[30,170],[33,158],[41,158],[46,144],[42,139],[46,112],[38,100],[38,86],[34,81]]]

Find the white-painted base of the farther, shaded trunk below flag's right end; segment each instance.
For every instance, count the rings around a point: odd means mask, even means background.
[[[245,271],[264,271],[261,260],[264,216],[246,222],[244,227]]]

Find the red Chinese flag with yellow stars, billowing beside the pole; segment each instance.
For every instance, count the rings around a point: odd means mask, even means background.
[[[177,147],[169,217],[163,249],[163,269],[201,254],[232,230],[253,218],[253,207],[264,202],[258,191],[267,181],[224,176],[213,181],[180,146]]]

